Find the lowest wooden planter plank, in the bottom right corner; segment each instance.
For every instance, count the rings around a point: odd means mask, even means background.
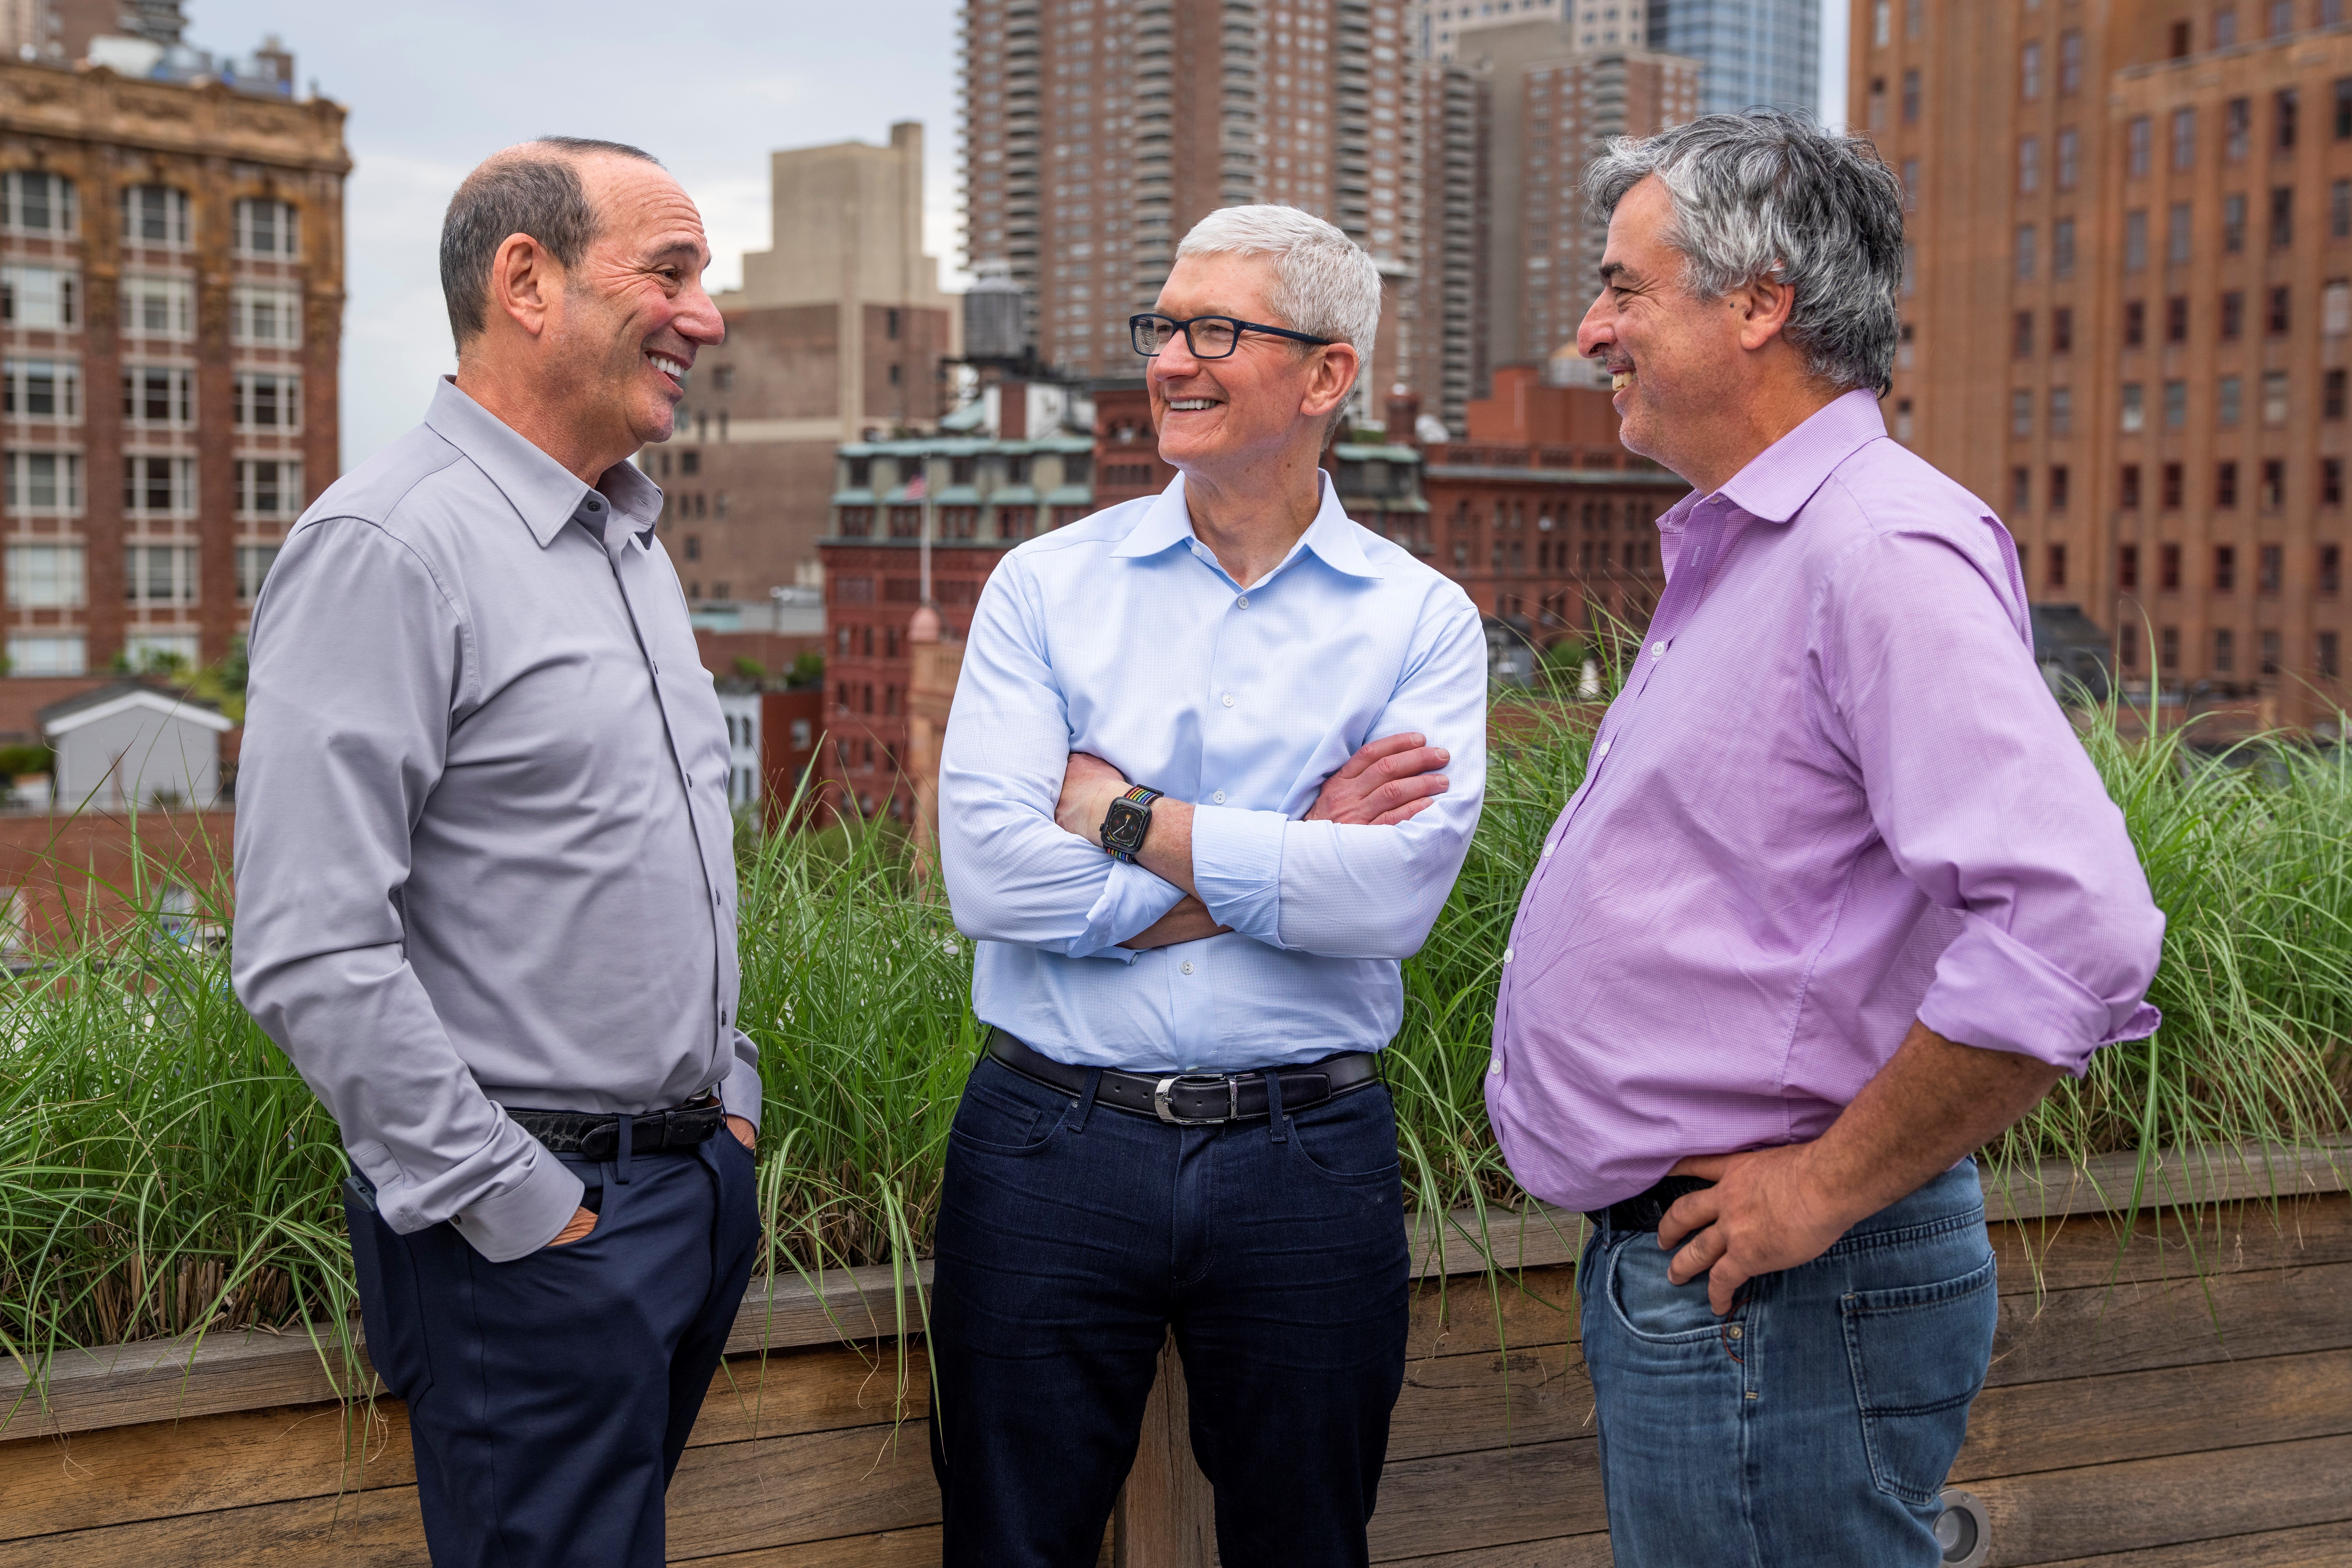
[[[2046,1469],[1969,1490],[1992,1516],[1992,1568],[2112,1556],[2347,1521],[2352,1436]]]

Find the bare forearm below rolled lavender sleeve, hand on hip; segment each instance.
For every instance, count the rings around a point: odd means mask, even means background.
[[[2049,1063],[1980,1051],[1912,1023],[1853,1103],[1806,1147],[1820,1192],[1863,1220],[1910,1197],[2042,1103],[2063,1077]]]

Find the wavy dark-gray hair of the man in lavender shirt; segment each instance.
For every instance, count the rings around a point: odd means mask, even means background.
[[[1806,369],[1886,393],[1903,284],[1903,186],[1860,136],[1752,108],[1616,136],[1585,174],[1602,221],[1651,174],[1675,202],[1682,284],[1722,299],[1757,277],[1795,292],[1783,329]]]

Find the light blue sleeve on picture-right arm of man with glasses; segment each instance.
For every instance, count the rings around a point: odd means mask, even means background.
[[[1423,614],[1367,741],[1418,733],[1446,748],[1446,792],[1392,827],[1195,806],[1192,886],[1218,924],[1348,959],[1409,959],[1428,940],[1486,799],[1486,632],[1461,590],[1432,592]]]

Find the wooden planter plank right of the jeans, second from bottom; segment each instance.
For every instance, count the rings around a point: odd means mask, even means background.
[[[2352,1432],[2352,1349],[1985,1389],[1957,1486]]]

